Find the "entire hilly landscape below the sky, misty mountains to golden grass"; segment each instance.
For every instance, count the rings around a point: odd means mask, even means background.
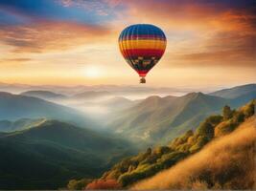
[[[253,187],[253,158],[246,156],[255,154],[256,84],[210,93],[4,83],[0,90],[0,189]],[[224,151],[218,141],[228,146],[229,137],[244,138],[229,146],[229,163],[212,163],[209,171],[195,164],[191,174],[178,169],[209,149]],[[184,182],[161,187],[162,171],[180,171]]]

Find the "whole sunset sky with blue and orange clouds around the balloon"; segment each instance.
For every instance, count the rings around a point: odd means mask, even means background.
[[[137,85],[118,47],[126,27],[158,26],[166,52],[145,86],[256,82],[254,0],[1,0],[0,81]]]

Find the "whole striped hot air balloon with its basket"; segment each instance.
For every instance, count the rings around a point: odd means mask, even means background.
[[[146,75],[160,60],[166,48],[164,32],[150,24],[131,25],[121,32],[119,48],[128,65],[146,83]]]

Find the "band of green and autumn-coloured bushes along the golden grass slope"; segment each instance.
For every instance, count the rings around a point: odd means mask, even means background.
[[[166,146],[148,148],[137,156],[121,160],[105,172],[100,180],[89,183],[86,188],[128,188],[139,180],[148,179],[174,166],[198,153],[209,142],[233,132],[255,114],[255,103],[255,100],[252,100],[239,110],[231,110],[229,106],[223,107],[222,115],[205,118],[196,131],[189,130]],[[108,184],[112,187],[105,186]]]

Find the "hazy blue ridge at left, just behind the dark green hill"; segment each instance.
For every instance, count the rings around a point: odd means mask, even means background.
[[[19,118],[59,119],[85,126],[100,126],[96,121],[92,122],[80,111],[50,102],[38,97],[12,95],[0,92],[0,119],[16,120]]]

